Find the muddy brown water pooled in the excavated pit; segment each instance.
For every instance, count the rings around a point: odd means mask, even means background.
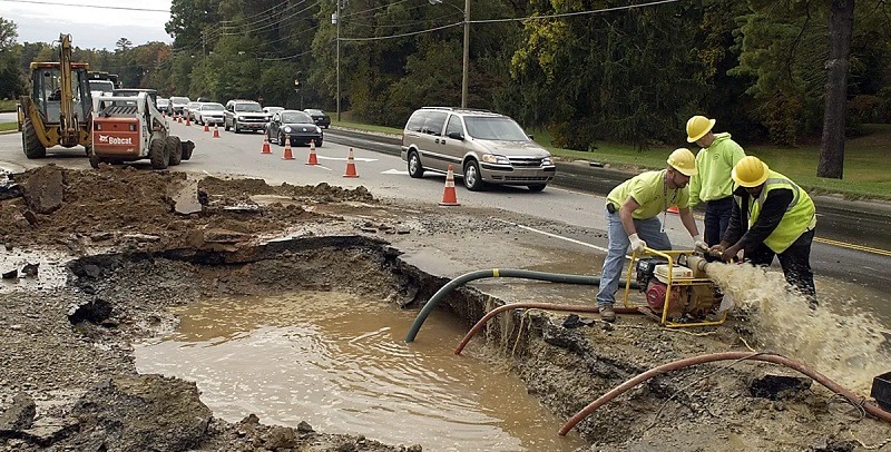
[[[309,422],[425,451],[571,451],[565,422],[502,363],[456,356],[468,327],[343,293],[205,301],[177,312],[178,332],[137,347],[140,373],[195,381],[214,414]]]

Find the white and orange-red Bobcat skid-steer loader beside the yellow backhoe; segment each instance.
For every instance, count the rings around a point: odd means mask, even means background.
[[[149,159],[164,169],[192,158],[195,144],[170,135],[170,125],[146,92],[137,96],[97,96],[92,99],[90,166]]]

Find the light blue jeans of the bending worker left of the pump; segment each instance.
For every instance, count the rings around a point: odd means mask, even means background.
[[[609,250],[604,259],[604,269],[600,272],[600,291],[597,292],[597,305],[611,305],[616,303],[616,291],[619,288],[619,277],[625,266],[625,253],[628,250],[630,242],[625,228],[621,227],[619,213],[606,213],[607,236],[609,238]],[[634,227],[637,228],[637,236],[647,243],[647,247],[659,250],[672,249],[672,242],[668,235],[662,232],[662,222],[658,217],[648,219],[635,219]]]

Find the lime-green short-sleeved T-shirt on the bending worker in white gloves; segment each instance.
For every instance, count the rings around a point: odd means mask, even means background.
[[[640,205],[633,214],[634,219],[648,219],[659,215],[668,207],[689,207],[689,190],[687,187],[670,189],[665,180],[666,170],[642,173],[613,188],[607,195],[607,203],[611,203],[616,210],[621,208],[628,196]]]

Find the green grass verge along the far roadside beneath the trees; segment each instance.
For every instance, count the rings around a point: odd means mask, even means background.
[[[401,129],[364,125],[353,121],[332,120],[333,126],[400,135]],[[811,193],[839,194],[846,198],[874,198],[891,200],[891,125],[872,124],[863,127],[864,135],[849,138],[844,147],[844,178],[828,179],[816,177],[820,160],[820,145],[804,145],[796,148],[776,146],[746,146],[746,155],[757,156],[771,169],[780,171]],[[656,147],[637,150],[633,146],[598,143],[591,153],[569,150],[551,145],[546,130],[529,130],[538,144],[550,150],[559,160],[598,161],[613,168],[642,171],[665,167],[665,159],[674,147]],[[681,132],[683,135],[683,131]],[[677,147],[688,147],[696,153],[695,144],[686,143],[684,137]]]

